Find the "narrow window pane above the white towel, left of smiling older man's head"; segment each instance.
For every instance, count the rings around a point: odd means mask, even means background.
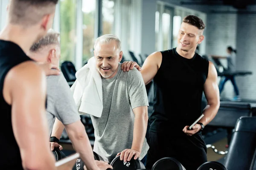
[[[83,62],[93,57],[96,0],[83,0]]]

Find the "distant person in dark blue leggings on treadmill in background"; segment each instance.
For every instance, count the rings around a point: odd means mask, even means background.
[[[227,71],[229,72],[234,72],[236,71],[236,50],[233,49],[232,47],[227,47],[227,56],[215,56],[215,55],[211,55],[212,58],[226,58],[227,59]],[[238,87],[236,85],[236,80],[234,76],[225,76],[224,78],[221,79],[220,83],[219,83],[219,90],[220,90],[220,94],[223,91],[224,85],[227,82],[227,80],[230,80],[233,84],[234,87],[234,91],[236,96],[233,97],[232,101],[234,102],[240,102],[241,98],[239,97],[239,90]]]

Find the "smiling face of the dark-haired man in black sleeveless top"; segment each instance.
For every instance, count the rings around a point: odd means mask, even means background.
[[[203,30],[198,29],[188,23],[182,23],[177,37],[177,50],[195,51],[198,44],[204,40]]]

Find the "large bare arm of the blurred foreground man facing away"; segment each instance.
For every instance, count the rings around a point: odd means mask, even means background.
[[[25,170],[55,169],[48,142],[45,89],[45,76],[33,62],[12,68],[4,82],[4,96],[12,105],[12,127]]]

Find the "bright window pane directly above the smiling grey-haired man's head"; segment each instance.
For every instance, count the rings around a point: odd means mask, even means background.
[[[102,0],[102,34],[113,34],[114,0]]]

